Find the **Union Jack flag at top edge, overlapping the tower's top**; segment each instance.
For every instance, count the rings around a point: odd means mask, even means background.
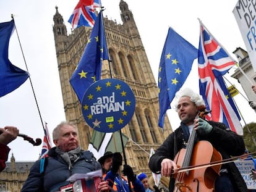
[[[78,28],[83,25],[93,27],[96,20],[94,9],[100,6],[100,0],[80,0],[68,22],[72,25],[72,28]]]

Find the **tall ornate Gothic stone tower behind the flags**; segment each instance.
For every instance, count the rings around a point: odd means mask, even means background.
[[[125,81],[135,94],[135,113],[122,133],[131,140],[126,144],[127,164],[135,173],[151,173],[148,169],[150,149],[157,149],[172,132],[168,118],[164,132],[158,127],[158,86],[148,62],[138,28],[126,2],[120,1],[122,25],[104,18],[106,41],[110,57],[103,62],[101,79],[117,78]],[[104,12],[103,12],[104,15]],[[79,63],[92,28],[79,27],[67,35],[61,14],[56,7],[53,17],[54,40],[61,80],[62,98],[66,119],[79,128],[79,140],[87,149],[93,129],[83,119],[80,102],[69,80]]]

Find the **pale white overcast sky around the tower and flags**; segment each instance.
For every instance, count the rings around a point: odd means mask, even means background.
[[[103,15],[121,23],[120,1],[101,1],[106,8]],[[58,6],[59,13],[63,16],[70,33],[71,26],[67,20],[77,2],[78,0],[0,1],[0,22],[10,21],[11,14],[14,14],[15,25],[19,33],[28,72],[31,75],[41,118],[43,122],[48,123],[50,133],[59,122],[65,120],[54,46],[53,15],[56,13],[55,6]],[[155,72],[155,79],[158,78],[157,71],[168,27],[173,27],[179,35],[198,48],[199,18],[231,56],[235,57],[232,52],[237,47],[245,49],[232,12],[237,3],[236,0],[163,0],[159,4],[153,3],[155,1],[145,0],[126,0],[126,2],[134,15],[151,69]],[[11,37],[9,59],[12,64],[26,70],[16,31]],[[229,76],[226,75],[225,77],[229,78]],[[242,91],[236,80],[233,78],[229,78],[229,80],[239,88],[239,91]],[[192,86],[198,90],[197,59],[184,86]],[[247,104],[247,101],[241,95],[234,99],[245,122],[254,121],[256,114]],[[43,138],[43,125],[29,80],[17,90],[0,98],[0,106],[0,127],[14,125],[19,128],[20,133],[32,138]],[[172,127],[177,128],[179,118],[173,109],[168,111],[168,117]],[[244,125],[244,122],[241,121],[241,123]],[[35,161],[38,159],[41,146],[34,147],[22,140],[22,138],[17,138],[9,144],[11,148],[9,158],[14,153],[16,161]]]

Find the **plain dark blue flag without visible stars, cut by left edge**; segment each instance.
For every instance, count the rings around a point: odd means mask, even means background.
[[[0,97],[19,88],[29,77],[28,72],[9,61],[9,40],[13,30],[14,20],[0,23]]]

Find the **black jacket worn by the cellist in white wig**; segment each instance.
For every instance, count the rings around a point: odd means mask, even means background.
[[[197,135],[197,140],[207,140],[210,141],[212,146],[221,153],[223,159],[228,159],[231,156],[240,156],[245,151],[245,144],[242,136],[237,135],[233,131],[224,125],[224,123],[212,122],[209,121],[213,126],[211,133],[207,136]],[[187,128],[186,128],[187,129]],[[158,148],[151,156],[148,163],[150,169],[154,173],[161,172],[161,161],[164,158],[174,160],[177,152],[185,147],[185,144],[188,140],[188,134],[184,128],[184,125],[181,125],[177,130],[171,133],[164,143]],[[242,178],[239,170],[236,165],[231,162],[228,164],[223,164],[221,169],[227,169],[231,180],[233,182],[234,188],[236,191],[247,191],[247,186]],[[169,190],[173,191],[175,180],[174,178],[170,179]]]

